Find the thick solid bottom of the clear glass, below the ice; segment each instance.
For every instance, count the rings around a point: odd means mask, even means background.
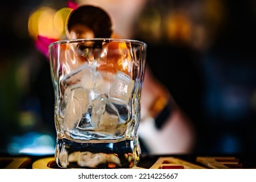
[[[132,168],[139,155],[140,147],[134,140],[78,143],[62,138],[55,149],[55,161],[61,168]]]

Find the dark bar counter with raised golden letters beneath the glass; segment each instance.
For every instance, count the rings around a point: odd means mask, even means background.
[[[53,155],[0,154],[1,169],[53,169]],[[135,169],[256,169],[256,155],[141,155]]]

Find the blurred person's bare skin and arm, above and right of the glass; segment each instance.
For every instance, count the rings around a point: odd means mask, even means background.
[[[78,5],[94,4],[104,8],[113,18],[118,38],[134,38],[135,22],[147,0],[97,1],[78,0]],[[166,55],[167,56],[167,55]],[[143,153],[192,153],[196,140],[193,123],[178,107],[169,90],[152,73],[145,73],[141,93],[141,123],[139,139]]]

